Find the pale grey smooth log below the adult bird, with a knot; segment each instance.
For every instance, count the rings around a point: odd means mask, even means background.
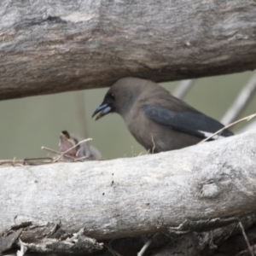
[[[131,159],[3,166],[0,230],[23,222],[104,240],[211,230],[256,210],[256,132]]]

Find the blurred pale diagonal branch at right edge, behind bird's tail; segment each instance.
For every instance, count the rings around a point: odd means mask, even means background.
[[[253,93],[256,91],[256,73],[254,73],[247,84],[242,88],[239,95],[236,97],[235,102],[230,106],[228,111],[221,119],[221,123],[224,125],[234,121],[241,111],[247,106],[247,103],[253,97]]]

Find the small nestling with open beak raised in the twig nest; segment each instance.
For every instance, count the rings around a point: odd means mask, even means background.
[[[67,131],[61,131],[59,146],[61,153],[66,152],[63,156],[64,161],[102,160],[102,154],[97,148],[90,146],[86,142],[78,144],[80,141],[82,139],[79,136],[71,136]],[[71,158],[68,156],[71,156]]]

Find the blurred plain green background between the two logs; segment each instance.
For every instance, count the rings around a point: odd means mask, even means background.
[[[236,119],[256,113],[253,90],[245,89],[248,82],[252,88],[255,74],[246,72],[196,79],[190,83],[189,90],[182,97],[183,101],[221,120],[243,91],[245,97],[251,97]],[[180,84],[181,81],[161,85],[177,93]],[[81,90],[0,102],[0,159],[52,156],[41,147],[58,150],[60,133],[64,130],[80,137],[91,137],[93,140],[90,144],[96,146],[106,159],[131,157],[145,152],[118,114],[108,114],[97,121],[91,119],[91,114],[102,103],[107,90]],[[255,122],[255,119],[235,125],[230,130],[237,133],[249,122]]]

